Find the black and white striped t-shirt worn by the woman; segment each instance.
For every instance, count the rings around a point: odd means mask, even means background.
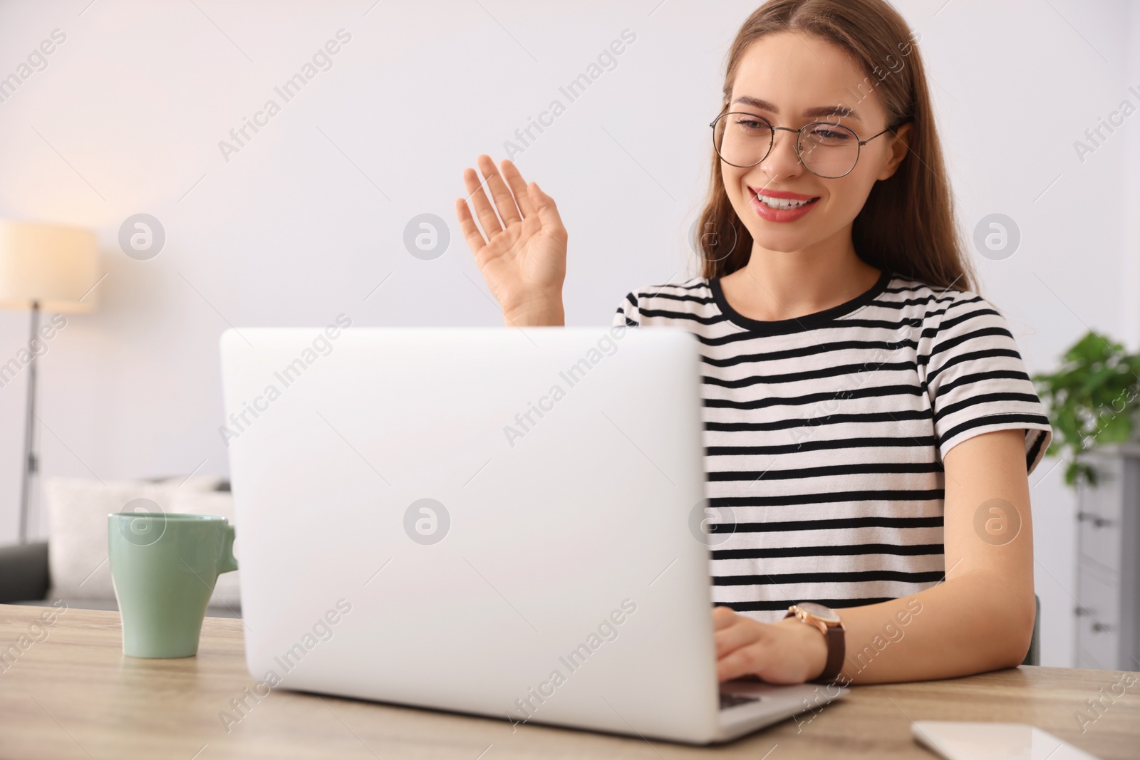
[[[946,452],[1024,428],[1033,472],[1052,438],[1004,317],[968,291],[883,270],[838,307],[759,321],[693,278],[628,294],[614,324],[700,342],[712,600],[756,620],[936,585]]]

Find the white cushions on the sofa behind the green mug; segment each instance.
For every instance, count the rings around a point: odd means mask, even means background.
[[[92,481],[50,477],[43,484],[48,515],[48,566],[52,599],[115,598],[107,566],[107,515],[135,499],[150,499],[163,512],[220,515],[234,523],[228,491],[215,491],[221,477],[194,475],[147,481]],[[211,605],[238,605],[237,573],[218,578]]]

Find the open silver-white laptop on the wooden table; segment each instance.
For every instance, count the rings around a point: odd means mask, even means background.
[[[349,321],[221,338],[259,693],[703,744],[839,692],[717,684],[692,335]]]

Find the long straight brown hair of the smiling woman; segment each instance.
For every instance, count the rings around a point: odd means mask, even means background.
[[[769,0],[736,34],[724,79],[724,103],[744,51],[766,34],[791,31],[838,44],[862,66],[860,99],[877,90],[895,129],[912,122],[910,152],[895,173],[874,183],[855,218],[858,256],[931,287],[974,291],[976,276],[963,255],[934,124],[926,70],[903,17],[885,0]],[[723,108],[722,108],[723,111]],[[708,202],[698,220],[701,276],[723,277],[748,263],[752,236],[728,202],[720,160],[712,153]],[[732,251],[724,254],[724,244]]]

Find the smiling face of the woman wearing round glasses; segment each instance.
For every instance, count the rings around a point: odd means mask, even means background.
[[[838,123],[865,140],[887,126],[887,113],[872,88],[878,82],[874,77],[864,81],[865,76],[848,54],[831,42],[803,33],[769,34],[754,42],[741,58],[727,111],[747,112],[773,126],[792,129],[816,121]],[[759,164],[741,169],[720,162],[728,199],[756,245],[768,251],[801,251],[839,234],[849,237],[847,228],[871,187],[890,177],[906,155],[910,124],[896,131],[899,138],[887,132],[862,146],[850,173],[824,179],[800,163],[796,133],[777,130],[771,153]],[[823,149],[829,148],[816,152]],[[757,197],[766,193],[771,203]],[[787,206],[789,197],[807,204],[790,210],[771,207]]]

